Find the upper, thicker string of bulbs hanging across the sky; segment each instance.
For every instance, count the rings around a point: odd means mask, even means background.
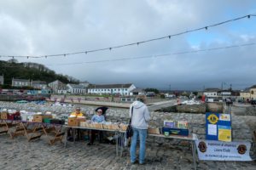
[[[9,57],[9,58],[45,58],[47,59],[48,57],[56,57],[56,56],[64,56],[66,57],[67,55],[73,55],[73,54],[88,54],[88,53],[93,53],[93,52],[97,52],[97,51],[102,51],[102,50],[111,50],[113,48],[123,48],[123,47],[127,47],[127,46],[131,46],[131,45],[139,45],[140,43],[145,43],[145,42],[153,42],[153,41],[157,41],[157,40],[161,40],[161,39],[165,39],[165,38],[169,38],[171,39],[171,37],[174,37],[174,36],[179,36],[179,35],[182,35],[182,34],[186,34],[186,33],[189,33],[189,32],[192,32],[192,31],[200,31],[200,30],[206,30],[210,27],[213,27],[213,26],[219,26],[219,25],[223,25],[225,23],[228,23],[228,22],[231,22],[231,21],[235,21],[235,20],[241,20],[243,18],[248,18],[250,19],[251,16],[256,16],[256,13],[254,14],[248,14],[248,15],[245,15],[245,16],[242,16],[242,17],[239,17],[239,18],[236,18],[236,19],[233,19],[233,20],[226,20],[224,22],[220,22],[218,24],[214,24],[212,26],[204,26],[204,27],[201,27],[201,28],[197,28],[195,30],[190,30],[190,31],[184,31],[184,32],[180,32],[180,33],[177,33],[177,34],[173,34],[173,35],[169,35],[169,36],[166,36],[166,37],[158,37],[158,38],[154,38],[154,39],[150,39],[150,40],[146,40],[146,41],[142,41],[142,42],[134,42],[134,43],[130,43],[130,44],[125,44],[125,45],[120,45],[120,46],[115,46],[115,47],[111,47],[111,48],[101,48],[101,49],[94,49],[94,50],[88,50],[88,51],[83,51],[83,52],[76,52],[76,53],[71,53],[71,54],[51,54],[51,55],[41,55],[41,56],[14,56],[14,55],[0,55],[0,57]]]

